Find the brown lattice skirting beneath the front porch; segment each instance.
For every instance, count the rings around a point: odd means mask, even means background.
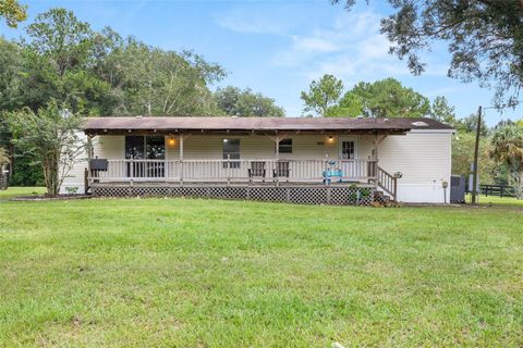
[[[299,204],[370,206],[373,187],[353,186],[93,186],[95,197],[200,197]]]

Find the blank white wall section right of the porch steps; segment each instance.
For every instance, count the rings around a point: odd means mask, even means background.
[[[406,136],[389,136],[381,141],[379,166],[390,174],[403,174],[398,181],[399,201],[449,201],[451,138],[449,130],[412,130]],[[448,183],[446,190],[443,182]]]

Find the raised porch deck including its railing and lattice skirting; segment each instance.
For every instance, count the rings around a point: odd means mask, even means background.
[[[109,160],[88,171],[94,196],[203,197],[372,204],[377,160]],[[381,186],[380,186],[381,187]]]

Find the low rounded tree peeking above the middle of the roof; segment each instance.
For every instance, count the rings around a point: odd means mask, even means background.
[[[215,92],[218,109],[229,116],[242,117],[283,117],[285,111],[275,104],[275,99],[255,94],[250,88],[240,89],[228,86]]]

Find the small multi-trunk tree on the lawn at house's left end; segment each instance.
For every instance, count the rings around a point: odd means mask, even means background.
[[[57,196],[84,150],[85,144],[78,136],[83,119],[50,101],[36,113],[25,108],[10,113],[8,120],[14,144],[41,165],[47,195]]]

